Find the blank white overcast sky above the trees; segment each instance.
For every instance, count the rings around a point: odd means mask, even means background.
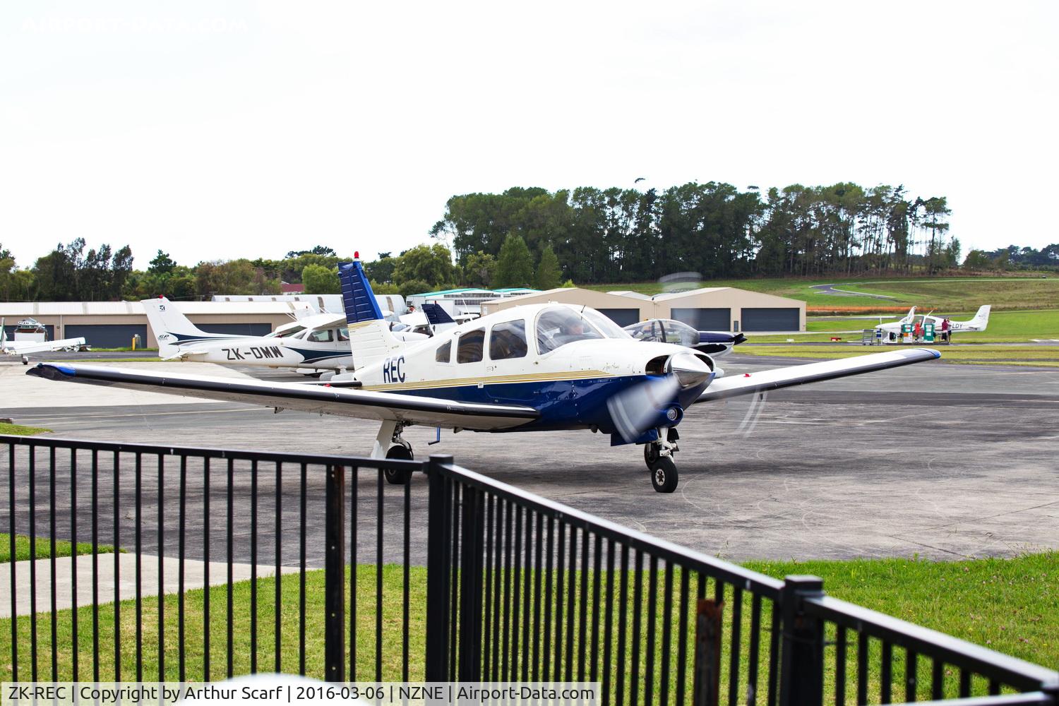
[[[904,183],[965,253],[1041,247],[1057,7],[6,0],[0,242],[370,258],[453,194],[647,177]]]

